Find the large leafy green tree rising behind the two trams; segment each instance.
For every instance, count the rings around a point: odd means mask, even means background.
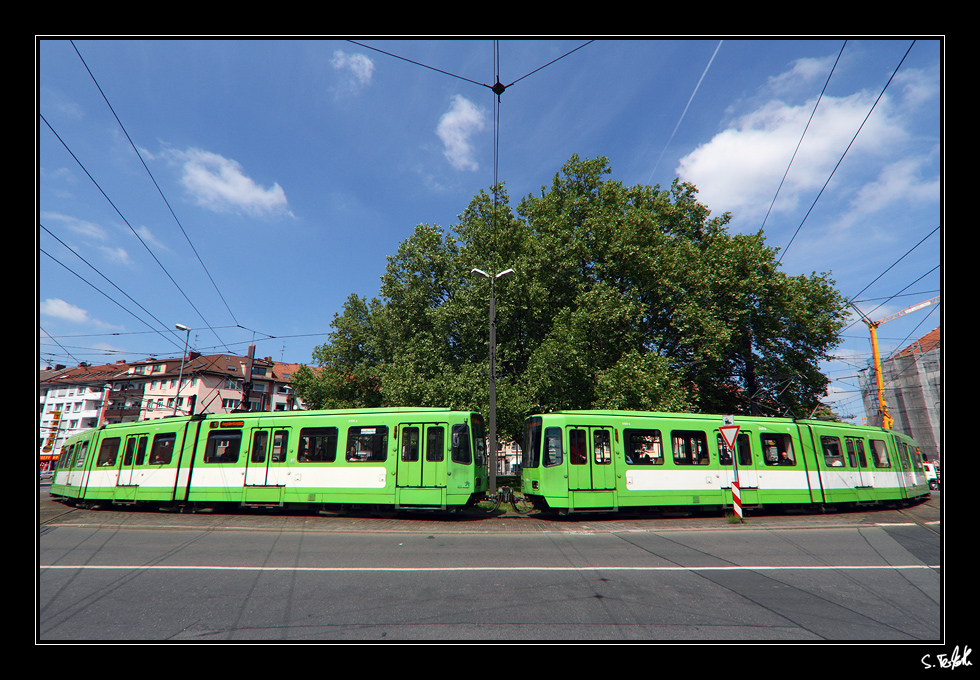
[[[488,403],[487,279],[497,301],[497,427],[571,408],[802,415],[827,379],[844,300],[787,276],[762,233],[730,234],[696,189],[626,187],[573,156],[512,208],[481,192],[451,232],[416,227],[380,297],[352,296],[297,392],[311,406]]]

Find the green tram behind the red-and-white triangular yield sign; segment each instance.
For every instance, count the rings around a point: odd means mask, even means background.
[[[683,506],[912,503],[929,495],[916,443],[881,428],[720,415],[564,411],[525,422],[521,490],[559,513]],[[734,454],[734,455],[733,455]],[[737,476],[736,476],[737,475]]]

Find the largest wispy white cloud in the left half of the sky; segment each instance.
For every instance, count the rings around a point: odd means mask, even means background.
[[[183,165],[181,182],[202,207],[250,215],[290,214],[282,187],[256,184],[237,161],[194,148],[167,155]]]

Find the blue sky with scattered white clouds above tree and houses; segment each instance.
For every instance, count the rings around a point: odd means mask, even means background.
[[[176,323],[204,353],[310,362],[416,225],[492,183],[498,74],[512,205],[606,156],[627,185],[695,184],[873,319],[939,295],[939,40],[359,42],[38,40],[42,367],[179,356]],[[941,314],[884,324],[883,350]],[[859,418],[863,323],[836,355],[829,400]]]

